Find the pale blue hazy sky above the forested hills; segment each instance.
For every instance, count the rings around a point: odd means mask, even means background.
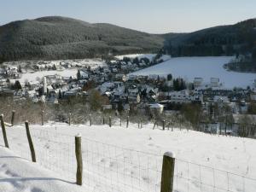
[[[256,17],[255,0],[1,0],[0,25],[61,15],[152,32],[193,32]]]

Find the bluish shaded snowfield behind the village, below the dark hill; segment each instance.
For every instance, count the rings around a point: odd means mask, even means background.
[[[173,77],[182,77],[190,82],[193,82],[194,78],[203,78],[205,83],[209,83],[211,78],[219,78],[227,88],[252,85],[253,79],[256,79],[255,73],[236,73],[224,69],[224,64],[230,59],[232,57],[229,56],[177,57],[132,74],[166,75],[172,73]]]

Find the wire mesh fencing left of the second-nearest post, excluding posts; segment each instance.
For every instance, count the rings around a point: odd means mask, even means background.
[[[25,127],[8,128],[6,131],[9,148],[21,158],[31,160]],[[36,151],[37,163],[46,169],[65,175],[67,180],[75,181],[74,137],[38,128],[30,129],[30,133]],[[1,134],[0,141],[3,143]]]

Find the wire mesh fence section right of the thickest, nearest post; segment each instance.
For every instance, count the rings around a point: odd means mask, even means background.
[[[174,191],[246,192],[256,189],[256,179],[176,159]]]

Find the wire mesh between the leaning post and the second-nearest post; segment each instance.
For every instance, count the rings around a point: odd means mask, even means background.
[[[45,168],[75,181],[74,137],[56,131],[31,129],[37,162]]]

